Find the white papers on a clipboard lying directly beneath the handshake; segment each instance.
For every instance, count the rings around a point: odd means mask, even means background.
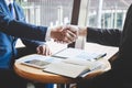
[[[61,57],[61,58],[76,58],[76,59],[86,59],[86,61],[97,61],[99,58],[102,58],[107,55],[106,52],[90,52],[90,51],[85,51],[80,48],[64,48],[57,53],[55,53],[53,56],[54,57]]]

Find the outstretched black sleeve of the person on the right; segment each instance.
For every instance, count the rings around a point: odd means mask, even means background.
[[[88,28],[87,42],[99,43],[109,46],[119,46],[121,31],[118,29]]]

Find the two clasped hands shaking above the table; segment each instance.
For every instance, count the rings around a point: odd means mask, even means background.
[[[69,30],[68,26],[55,26],[51,30],[51,37],[59,43],[72,43],[77,38],[77,34],[74,30]]]

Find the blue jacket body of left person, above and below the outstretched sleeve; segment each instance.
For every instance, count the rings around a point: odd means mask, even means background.
[[[3,0],[0,1],[0,8],[6,15],[10,15],[10,11]],[[14,2],[15,20],[24,21],[22,9]],[[11,15],[10,15],[11,16]],[[12,16],[11,16],[12,18]],[[15,56],[16,37],[8,35],[0,31],[0,68],[9,68],[12,56]]]

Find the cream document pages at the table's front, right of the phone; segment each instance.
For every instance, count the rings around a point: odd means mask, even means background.
[[[78,62],[85,62],[79,59]],[[56,63],[52,63],[50,65],[47,65],[47,67],[45,69],[43,69],[44,72],[48,72],[52,74],[57,74],[57,75],[62,75],[62,76],[66,76],[66,77],[70,77],[70,78],[77,78],[77,77],[85,77],[84,75],[87,73],[90,73],[97,68],[101,68],[103,66],[102,63],[100,62],[85,62],[85,65],[81,64],[76,64],[74,62],[56,62]]]

